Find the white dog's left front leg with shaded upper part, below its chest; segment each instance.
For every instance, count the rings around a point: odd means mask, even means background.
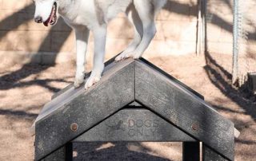
[[[85,57],[89,37],[89,29],[85,26],[78,26],[74,28],[77,48],[77,69],[74,79],[74,88],[78,88],[85,77]]]

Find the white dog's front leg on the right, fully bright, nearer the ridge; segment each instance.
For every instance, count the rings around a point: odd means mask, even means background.
[[[86,81],[85,88],[90,88],[97,83],[101,77],[104,69],[104,57],[106,47],[106,26],[102,25],[93,29],[94,33],[94,67],[90,74],[88,81]]]

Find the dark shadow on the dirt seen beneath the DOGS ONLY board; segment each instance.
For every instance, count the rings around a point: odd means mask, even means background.
[[[133,160],[133,161],[170,161],[159,156],[150,155],[150,149],[136,143],[139,151],[130,151],[128,143],[113,143],[110,147],[102,147],[104,143],[75,143],[74,161],[80,160]]]

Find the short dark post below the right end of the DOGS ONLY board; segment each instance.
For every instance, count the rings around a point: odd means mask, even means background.
[[[183,142],[182,144],[182,160],[183,161],[199,161],[200,160],[200,143],[199,142]]]

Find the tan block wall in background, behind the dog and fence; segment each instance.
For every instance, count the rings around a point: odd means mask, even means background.
[[[245,26],[248,40],[242,42],[240,66],[255,71],[256,21],[255,1],[246,6]],[[231,71],[233,0],[207,0],[207,49],[211,56]],[[34,4],[31,0],[0,0],[0,59],[1,66],[14,63],[54,63],[74,60],[74,32],[59,19],[54,27],[34,23]],[[143,57],[194,54],[196,51],[198,0],[168,0],[157,18],[158,33]],[[123,14],[110,22],[106,59],[126,48],[133,29]],[[90,36],[87,57],[91,60],[94,44]],[[220,57],[230,55],[229,66]],[[215,57],[216,56],[216,57]],[[227,61],[227,60],[226,60]],[[248,67],[249,66],[249,67]]]

